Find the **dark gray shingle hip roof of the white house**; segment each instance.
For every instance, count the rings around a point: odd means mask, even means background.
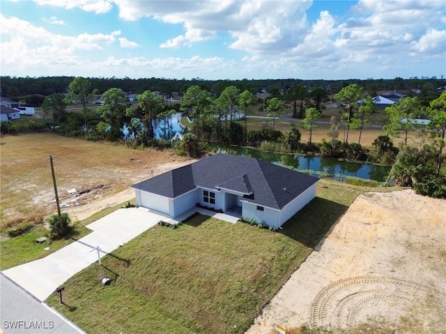
[[[244,200],[282,209],[318,181],[317,177],[260,159],[215,154],[134,184],[132,188],[175,198],[197,187],[231,189]]]

